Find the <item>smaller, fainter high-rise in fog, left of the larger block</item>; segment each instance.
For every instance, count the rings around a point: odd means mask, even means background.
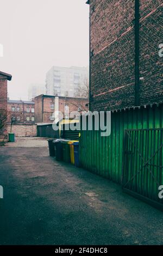
[[[33,83],[28,89],[28,100],[34,99],[40,94],[45,94],[46,88],[43,84]]]

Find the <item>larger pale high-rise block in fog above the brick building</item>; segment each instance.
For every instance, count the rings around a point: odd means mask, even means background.
[[[46,94],[67,97],[83,97],[79,89],[89,78],[88,68],[53,66],[46,74]]]

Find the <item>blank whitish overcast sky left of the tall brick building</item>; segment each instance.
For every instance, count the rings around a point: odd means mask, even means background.
[[[86,0],[0,0],[0,70],[12,75],[10,99],[28,99],[53,66],[89,65]]]

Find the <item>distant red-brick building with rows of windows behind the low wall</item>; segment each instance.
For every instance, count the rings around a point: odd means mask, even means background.
[[[13,116],[16,124],[34,124],[35,102],[8,99],[8,123]]]

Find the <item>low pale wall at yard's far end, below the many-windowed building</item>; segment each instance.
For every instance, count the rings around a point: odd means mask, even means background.
[[[10,125],[8,124],[8,133],[10,132]],[[37,125],[12,125],[12,133],[15,133],[16,137],[36,137]]]

